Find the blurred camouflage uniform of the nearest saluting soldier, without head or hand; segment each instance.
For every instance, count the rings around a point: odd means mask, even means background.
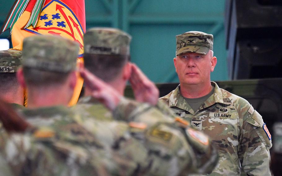
[[[146,114],[136,115],[145,109]],[[205,173],[218,159],[205,135],[185,121],[161,118],[146,104],[121,101],[114,115],[124,121],[85,117],[63,106],[23,109],[20,114],[37,128],[0,136],[3,175]]]

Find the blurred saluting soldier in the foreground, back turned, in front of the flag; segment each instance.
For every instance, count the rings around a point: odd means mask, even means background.
[[[67,105],[75,85],[72,74],[77,52],[77,45],[59,37],[24,39],[23,70],[18,77],[31,96],[28,109],[21,114],[34,128],[24,136],[2,135],[0,168],[15,168],[3,174],[177,175],[211,171],[217,154],[205,135],[185,121],[177,119],[175,123],[146,104],[122,98],[86,70],[81,73],[91,95],[123,121],[98,120],[62,106]],[[46,79],[50,79],[47,84]],[[57,99],[53,94],[66,97]],[[144,110],[154,116],[142,116],[142,120],[139,114]]]

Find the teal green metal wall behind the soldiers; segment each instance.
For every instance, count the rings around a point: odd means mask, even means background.
[[[132,35],[131,59],[157,83],[178,82],[175,35],[198,30],[214,35],[218,64],[211,79],[227,80],[224,0],[85,0],[86,28],[115,27]],[[13,1],[0,0],[0,24]],[[5,36],[6,35],[6,36]],[[7,37],[2,34],[0,38]]]

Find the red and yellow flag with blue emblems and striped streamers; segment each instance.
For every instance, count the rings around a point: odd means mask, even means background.
[[[83,64],[83,34],[86,30],[84,0],[16,0],[0,33],[10,29],[13,49],[22,49],[25,37],[59,35],[80,45],[77,65]],[[78,74],[77,74],[78,76]],[[77,102],[83,80],[77,86],[69,105]]]

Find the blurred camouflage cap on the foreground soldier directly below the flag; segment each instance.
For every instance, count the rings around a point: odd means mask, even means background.
[[[59,36],[36,35],[23,42],[24,67],[67,73],[76,68],[79,46]]]

